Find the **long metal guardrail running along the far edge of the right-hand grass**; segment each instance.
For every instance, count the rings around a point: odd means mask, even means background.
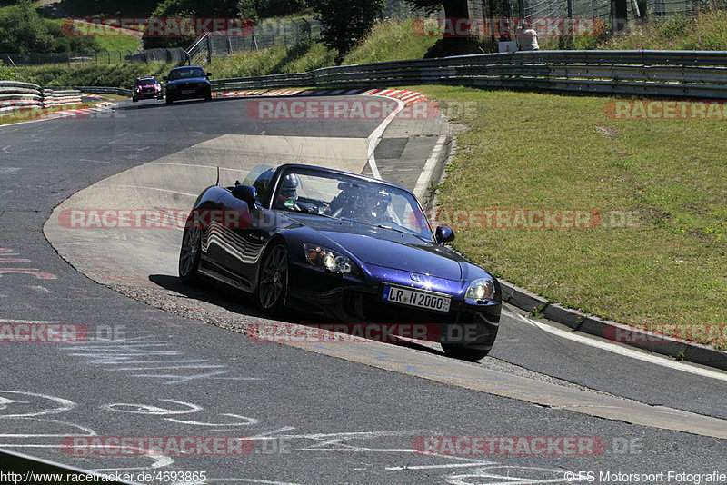
[[[324,67],[220,79],[214,91],[461,84],[599,94],[727,99],[727,52],[543,51]]]

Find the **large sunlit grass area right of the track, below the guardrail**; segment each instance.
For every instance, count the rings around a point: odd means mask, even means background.
[[[627,227],[470,226],[458,250],[551,302],[618,322],[725,324],[727,120],[615,120],[602,97],[413,89],[466,107],[455,121],[471,130],[458,135],[443,209],[635,215]]]

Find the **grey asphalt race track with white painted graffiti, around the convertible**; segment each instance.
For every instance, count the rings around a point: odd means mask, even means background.
[[[476,363],[435,344],[259,343],[244,329],[268,321],[246,299],[176,281],[181,231],[64,227],[68,208],[188,209],[217,166],[222,184],[259,163],[370,169],[365,139],[380,120],[259,121],[247,103],[129,102],[113,116],[0,127],[0,328],[88,332],[0,343],[0,448],[145,483],[637,482],[619,473],[703,483],[727,473],[725,372],[563,338],[512,307]],[[438,138],[395,140],[376,160],[413,188]],[[94,437],[195,448],[78,456],[67,446]],[[206,480],[193,477],[202,471]],[[186,473],[136,480],[142,472]]]

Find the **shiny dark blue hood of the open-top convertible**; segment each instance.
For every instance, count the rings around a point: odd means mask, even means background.
[[[460,258],[456,253],[438,244],[426,243],[413,235],[317,216],[294,219],[323,234],[366,264],[429,274],[446,280],[463,278]]]

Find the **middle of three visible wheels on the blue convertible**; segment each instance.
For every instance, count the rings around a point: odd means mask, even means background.
[[[257,283],[257,301],[264,312],[283,310],[288,291],[288,250],[281,242],[273,243],[265,252]]]

